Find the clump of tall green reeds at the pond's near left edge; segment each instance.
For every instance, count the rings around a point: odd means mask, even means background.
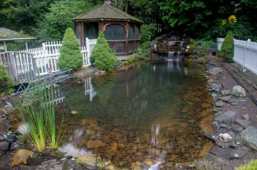
[[[35,147],[39,152],[44,152],[47,134],[52,149],[59,146],[61,137],[60,132],[56,135],[52,87],[44,81],[39,81],[37,85],[36,89],[25,91],[24,103],[18,109]]]

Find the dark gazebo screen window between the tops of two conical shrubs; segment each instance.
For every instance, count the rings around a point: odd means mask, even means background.
[[[98,37],[98,23],[84,23],[84,38],[96,39]]]

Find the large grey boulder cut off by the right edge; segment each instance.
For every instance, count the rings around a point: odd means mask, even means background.
[[[257,129],[254,126],[246,128],[240,133],[240,141],[253,151],[257,151]]]

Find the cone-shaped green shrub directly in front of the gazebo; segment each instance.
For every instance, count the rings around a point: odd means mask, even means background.
[[[90,55],[90,61],[95,67],[105,71],[113,70],[118,62],[102,32],[98,35],[97,44]]]

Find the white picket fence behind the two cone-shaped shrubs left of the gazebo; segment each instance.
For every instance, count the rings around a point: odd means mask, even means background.
[[[91,66],[90,54],[96,45],[96,39],[86,38],[86,46],[81,47],[81,54],[83,56],[83,66]],[[45,75],[51,72],[59,71],[58,58],[60,57],[60,49],[62,41],[47,41],[42,43],[42,47],[23,50],[20,52],[33,54],[35,59],[36,69],[40,75]]]

